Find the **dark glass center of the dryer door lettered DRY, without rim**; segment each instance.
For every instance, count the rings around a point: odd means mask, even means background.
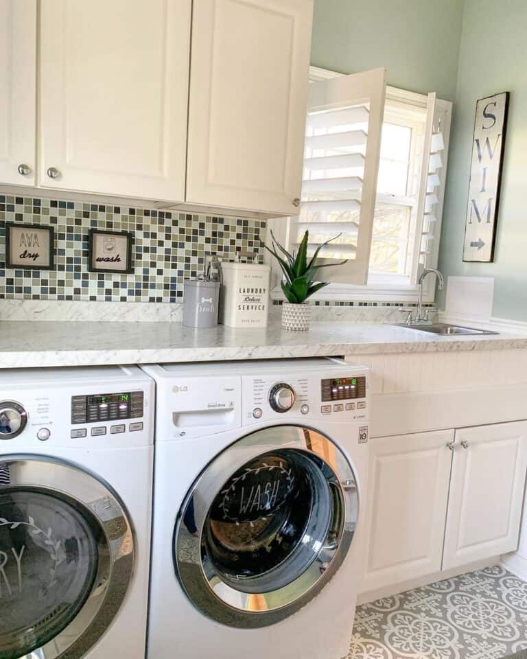
[[[77,616],[97,574],[99,535],[64,498],[0,493],[0,656],[29,654]]]

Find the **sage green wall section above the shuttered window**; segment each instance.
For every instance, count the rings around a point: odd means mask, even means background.
[[[502,4],[502,3],[496,3]],[[454,100],[463,0],[315,0],[312,65]]]

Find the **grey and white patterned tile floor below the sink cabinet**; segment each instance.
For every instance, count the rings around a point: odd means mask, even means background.
[[[527,583],[496,566],[359,606],[347,659],[503,659],[526,649]]]

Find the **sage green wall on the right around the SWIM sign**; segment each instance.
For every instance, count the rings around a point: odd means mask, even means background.
[[[493,315],[518,321],[527,321],[526,35],[526,0],[466,0],[439,258],[447,276],[494,277]],[[476,100],[501,91],[511,92],[511,102],[495,262],[464,264]]]

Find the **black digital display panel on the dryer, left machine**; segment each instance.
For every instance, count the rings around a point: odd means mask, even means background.
[[[97,421],[117,421],[117,419],[139,419],[143,414],[143,391],[71,397],[71,423],[73,425],[94,424]]]

